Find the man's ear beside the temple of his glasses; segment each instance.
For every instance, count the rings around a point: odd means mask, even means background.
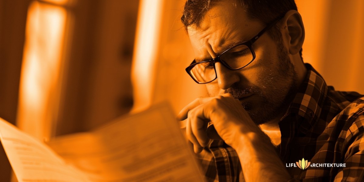
[[[302,17],[295,10],[289,10],[282,18],[283,40],[288,46],[289,53],[297,54],[305,40],[305,28],[303,27]]]

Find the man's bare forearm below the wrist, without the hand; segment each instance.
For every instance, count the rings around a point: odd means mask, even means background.
[[[289,181],[291,179],[268,136],[250,133],[238,139],[236,151],[245,181]]]

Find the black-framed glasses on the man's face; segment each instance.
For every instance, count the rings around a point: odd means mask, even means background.
[[[220,62],[229,70],[239,70],[248,66],[255,59],[255,52],[252,48],[253,43],[258,40],[267,30],[273,27],[282,17],[278,17],[256,36],[248,41],[237,44],[222,52],[214,59],[193,62],[186,68],[187,74],[198,84],[205,84],[214,81],[217,78],[215,63]]]

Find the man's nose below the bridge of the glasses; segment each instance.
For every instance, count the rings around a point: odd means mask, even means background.
[[[223,90],[240,81],[238,71],[229,70],[222,63],[215,63],[217,83]]]

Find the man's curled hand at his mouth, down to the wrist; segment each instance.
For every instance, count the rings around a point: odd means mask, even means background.
[[[209,143],[206,133],[209,121],[225,143],[234,149],[241,143],[238,139],[242,136],[249,138],[249,133],[262,132],[231,94],[197,98],[179,112],[177,119],[186,119],[186,136],[193,143],[195,153],[200,153]]]

